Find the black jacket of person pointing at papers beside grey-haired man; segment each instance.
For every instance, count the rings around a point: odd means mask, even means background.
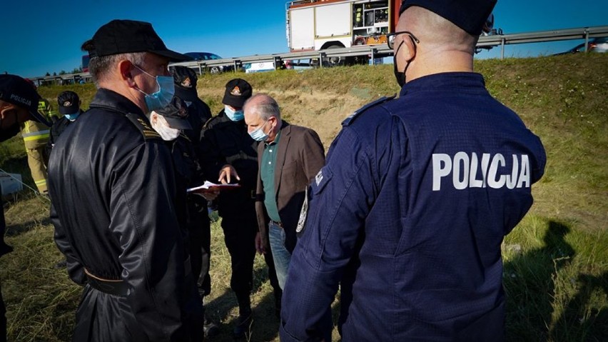
[[[219,171],[226,164],[232,165],[240,178],[240,188],[222,191],[216,199],[219,214],[240,215],[246,208],[250,208],[253,214],[258,176],[258,142],[247,133],[245,121],[232,121],[222,110],[207,121],[201,137],[202,164],[211,181],[218,180]],[[233,177],[230,181],[237,182]]]

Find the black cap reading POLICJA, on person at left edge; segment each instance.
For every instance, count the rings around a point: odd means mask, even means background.
[[[51,123],[38,112],[40,99],[36,88],[26,79],[11,74],[0,75],[0,100],[24,107],[34,121],[51,126]]]

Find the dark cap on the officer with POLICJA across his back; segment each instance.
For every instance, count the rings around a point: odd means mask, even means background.
[[[497,0],[403,0],[399,14],[410,6],[420,6],[479,36]],[[432,28],[429,28],[432,29]]]

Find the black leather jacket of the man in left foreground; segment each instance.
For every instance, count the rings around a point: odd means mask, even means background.
[[[76,283],[86,283],[86,268],[129,288],[115,296],[87,285],[74,341],[191,341],[188,321],[202,308],[186,280],[171,151],[135,104],[108,89],[70,131],[49,165],[56,244]]]

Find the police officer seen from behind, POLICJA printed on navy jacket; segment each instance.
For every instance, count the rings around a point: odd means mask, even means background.
[[[402,2],[387,37],[400,97],[346,119],[310,185],[281,341],[330,341],[338,286],[343,341],[504,339],[500,246],[546,156],[472,72],[494,5]]]

